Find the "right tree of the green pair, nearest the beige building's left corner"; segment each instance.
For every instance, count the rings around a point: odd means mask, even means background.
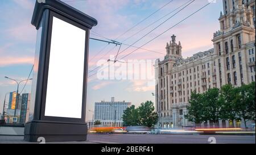
[[[141,125],[152,127],[158,122],[158,114],[155,112],[154,103],[146,101],[138,107],[139,121]]]

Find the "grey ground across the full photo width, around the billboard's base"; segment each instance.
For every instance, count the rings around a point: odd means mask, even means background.
[[[87,141],[47,144],[255,144],[255,135],[88,134]],[[0,136],[0,144],[27,144],[23,136]],[[33,144],[33,143],[31,143]],[[36,143],[35,143],[36,144]]]

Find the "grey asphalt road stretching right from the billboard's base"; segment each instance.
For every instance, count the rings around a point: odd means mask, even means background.
[[[207,144],[215,137],[221,144],[255,144],[255,135],[150,135],[150,134],[89,134],[88,141],[126,144]]]

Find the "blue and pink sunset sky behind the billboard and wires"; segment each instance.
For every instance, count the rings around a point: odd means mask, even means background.
[[[151,62],[154,62],[157,58],[163,60],[164,54],[166,53],[166,43],[170,43],[173,34],[176,36],[176,41],[180,41],[181,43],[183,58],[213,48],[211,40],[213,38],[213,32],[219,30],[220,27],[218,18],[220,11],[222,11],[222,1],[216,0],[210,3],[210,5],[177,26],[175,26],[176,23],[206,5],[208,1],[196,0],[176,15],[174,15],[175,12],[172,12],[172,14],[162,18],[185,2],[188,2],[188,0],[173,0],[168,5],[164,6],[169,1],[170,0],[63,0],[63,2],[68,5],[97,19],[98,24],[92,28],[90,37],[102,40],[112,39],[123,43],[119,50],[121,53],[117,57],[117,60],[121,62],[114,64],[117,68],[118,65],[127,65],[128,63],[122,62],[127,62],[128,60],[150,60]],[[5,94],[16,90],[15,82],[4,77],[7,76],[18,80],[26,79],[34,63],[36,29],[31,24],[34,5],[34,0],[0,1],[0,113],[2,113]],[[141,22],[162,6],[164,6],[162,9]],[[172,15],[174,16],[167,20],[167,22],[135,43],[135,41]],[[152,24],[150,27],[147,27],[159,18],[162,19]],[[141,23],[122,35],[139,22]],[[142,47],[155,52],[146,51],[144,49],[138,49],[133,52],[136,49],[135,47],[140,47],[170,27],[173,28]],[[138,32],[139,30],[142,31]],[[130,37],[132,35],[133,37]],[[128,37],[130,38],[127,39]],[[127,44],[133,44],[135,47],[127,48]],[[151,94],[155,93],[155,86],[152,84],[154,83],[154,81],[152,81],[154,80],[152,79],[154,73],[152,73],[151,76],[147,76],[150,77],[150,79],[100,79],[98,77],[97,70],[101,71],[101,69],[95,69],[97,65],[106,62],[108,59],[114,60],[113,57],[117,54],[118,48],[119,45],[115,47],[113,44],[104,43],[102,41],[90,40],[89,42],[89,78],[86,96],[86,120],[92,119],[92,112],[89,112],[89,110],[94,110],[94,102],[100,102],[101,100],[109,101],[111,97],[115,97],[115,100],[131,102],[135,106],[139,106],[139,104],[146,100],[155,102],[155,97]],[[126,50],[124,51],[124,49]],[[130,52],[133,53],[126,56]],[[112,58],[110,56],[112,56]],[[124,56],[126,57],[122,59]],[[142,75],[142,70],[145,69],[146,68],[142,67],[141,72],[134,73],[134,76],[135,74]],[[151,71],[154,72],[153,64],[151,65]],[[133,73],[133,70],[127,69],[126,73]],[[23,86],[24,83],[20,85],[19,91],[21,91]],[[23,93],[30,93],[30,91],[31,81],[24,87]],[[68,94],[68,91],[76,90],[64,91],[63,94]],[[8,99],[9,97],[7,95],[7,100]]]

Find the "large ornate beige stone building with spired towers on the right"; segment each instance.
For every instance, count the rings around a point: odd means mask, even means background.
[[[162,127],[192,125],[184,115],[191,92],[203,93],[231,83],[255,81],[255,0],[224,0],[220,30],[213,34],[212,49],[182,58],[176,36],[166,45],[163,61],[155,63],[156,112]],[[228,127],[229,120],[220,120]],[[243,123],[234,121],[237,127]]]

